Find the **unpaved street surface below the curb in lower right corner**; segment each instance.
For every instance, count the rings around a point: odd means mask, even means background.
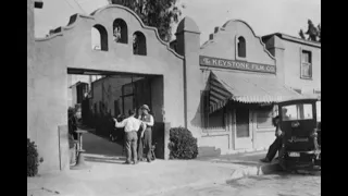
[[[249,176],[226,184],[186,187],[156,196],[320,196],[321,176],[274,174]]]

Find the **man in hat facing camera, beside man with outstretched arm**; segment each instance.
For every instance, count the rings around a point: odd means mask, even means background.
[[[142,115],[141,121],[146,123],[146,130],[141,133],[141,137],[144,136],[144,147],[145,154],[148,162],[151,162],[151,148],[152,148],[152,126],[154,123],[153,117],[149,114],[150,108],[147,105],[142,105],[141,107]]]

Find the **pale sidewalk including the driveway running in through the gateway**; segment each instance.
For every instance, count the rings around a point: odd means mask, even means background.
[[[226,183],[228,180],[264,173],[264,164],[254,162],[261,152],[257,156],[156,160],[151,163],[126,166],[122,164],[124,157],[120,156],[121,146],[117,144],[85,134],[84,148],[86,163],[91,167],[89,170],[71,170],[28,177],[27,195],[146,196],[186,186]],[[239,160],[239,163],[236,160]],[[45,189],[41,189],[42,187]]]

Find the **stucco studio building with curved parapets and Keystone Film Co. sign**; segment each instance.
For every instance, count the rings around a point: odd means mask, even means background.
[[[243,21],[226,22],[200,46],[198,26],[185,17],[169,45],[121,5],[75,14],[46,38],[34,37],[32,0],[27,13],[27,136],[45,159],[40,171],[69,170],[70,74],[120,75],[94,82],[92,88],[105,90],[109,98],[91,94],[91,110],[114,114],[149,105],[156,117],[157,156],[163,159],[169,158],[169,131],[175,126],[198,138],[199,156],[264,149],[274,139],[274,103],[303,97],[281,77],[279,66],[287,60],[273,54],[272,45],[269,48]],[[121,30],[115,38],[116,27]],[[92,30],[99,33],[97,45]],[[112,85],[100,87],[108,83],[122,87],[114,93]]]

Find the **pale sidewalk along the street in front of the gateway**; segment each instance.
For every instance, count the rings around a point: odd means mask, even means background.
[[[240,167],[203,161],[157,160],[137,166],[121,164],[124,160],[112,161],[113,163],[88,161],[90,170],[71,170],[28,177],[28,188],[45,187],[66,196],[152,195],[185,186],[225,183],[240,177],[235,175]]]

